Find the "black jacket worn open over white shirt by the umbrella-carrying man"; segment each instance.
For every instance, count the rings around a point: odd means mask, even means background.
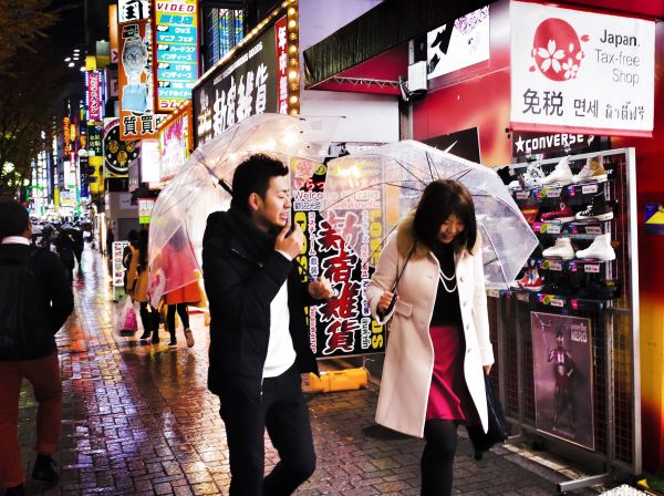
[[[270,303],[288,280],[290,334],[301,373],[317,372],[304,306],[312,304],[294,262],[274,250],[276,236],[231,208],[210,214],[203,240],[203,271],[210,306],[208,388],[260,395],[270,337]]]

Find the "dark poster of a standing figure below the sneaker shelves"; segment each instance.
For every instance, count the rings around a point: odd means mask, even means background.
[[[594,450],[591,320],[531,312],[535,425]]]

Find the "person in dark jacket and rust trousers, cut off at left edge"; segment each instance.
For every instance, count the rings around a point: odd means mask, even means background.
[[[19,396],[23,378],[32,384],[39,403],[37,412],[37,462],[32,477],[44,482],[59,478],[51,455],[58,448],[62,413],[62,384],[55,333],[74,308],[72,286],[58,255],[30,246],[32,227],[28,211],[17,202],[0,203],[0,270],[18,260],[28,264],[42,294],[41,314],[31,321],[43,322],[41,340],[30,351],[12,360],[0,360],[0,480],[6,495],[22,495],[23,465],[18,440]],[[35,251],[37,250],[37,251]],[[33,312],[34,313],[34,312]],[[40,313],[40,312],[37,312]],[[0,321],[0,326],[3,322]]]

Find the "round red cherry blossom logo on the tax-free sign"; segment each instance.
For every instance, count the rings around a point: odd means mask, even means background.
[[[579,38],[574,28],[562,19],[547,19],[535,31],[531,56],[535,65],[530,72],[540,70],[552,81],[569,81],[577,78],[585,53],[581,42],[588,34]]]

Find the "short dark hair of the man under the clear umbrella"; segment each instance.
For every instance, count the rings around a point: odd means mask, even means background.
[[[232,176],[230,206],[249,213],[249,196],[257,193],[264,199],[270,178],[288,175],[288,167],[269,155],[251,155],[236,168]]]

